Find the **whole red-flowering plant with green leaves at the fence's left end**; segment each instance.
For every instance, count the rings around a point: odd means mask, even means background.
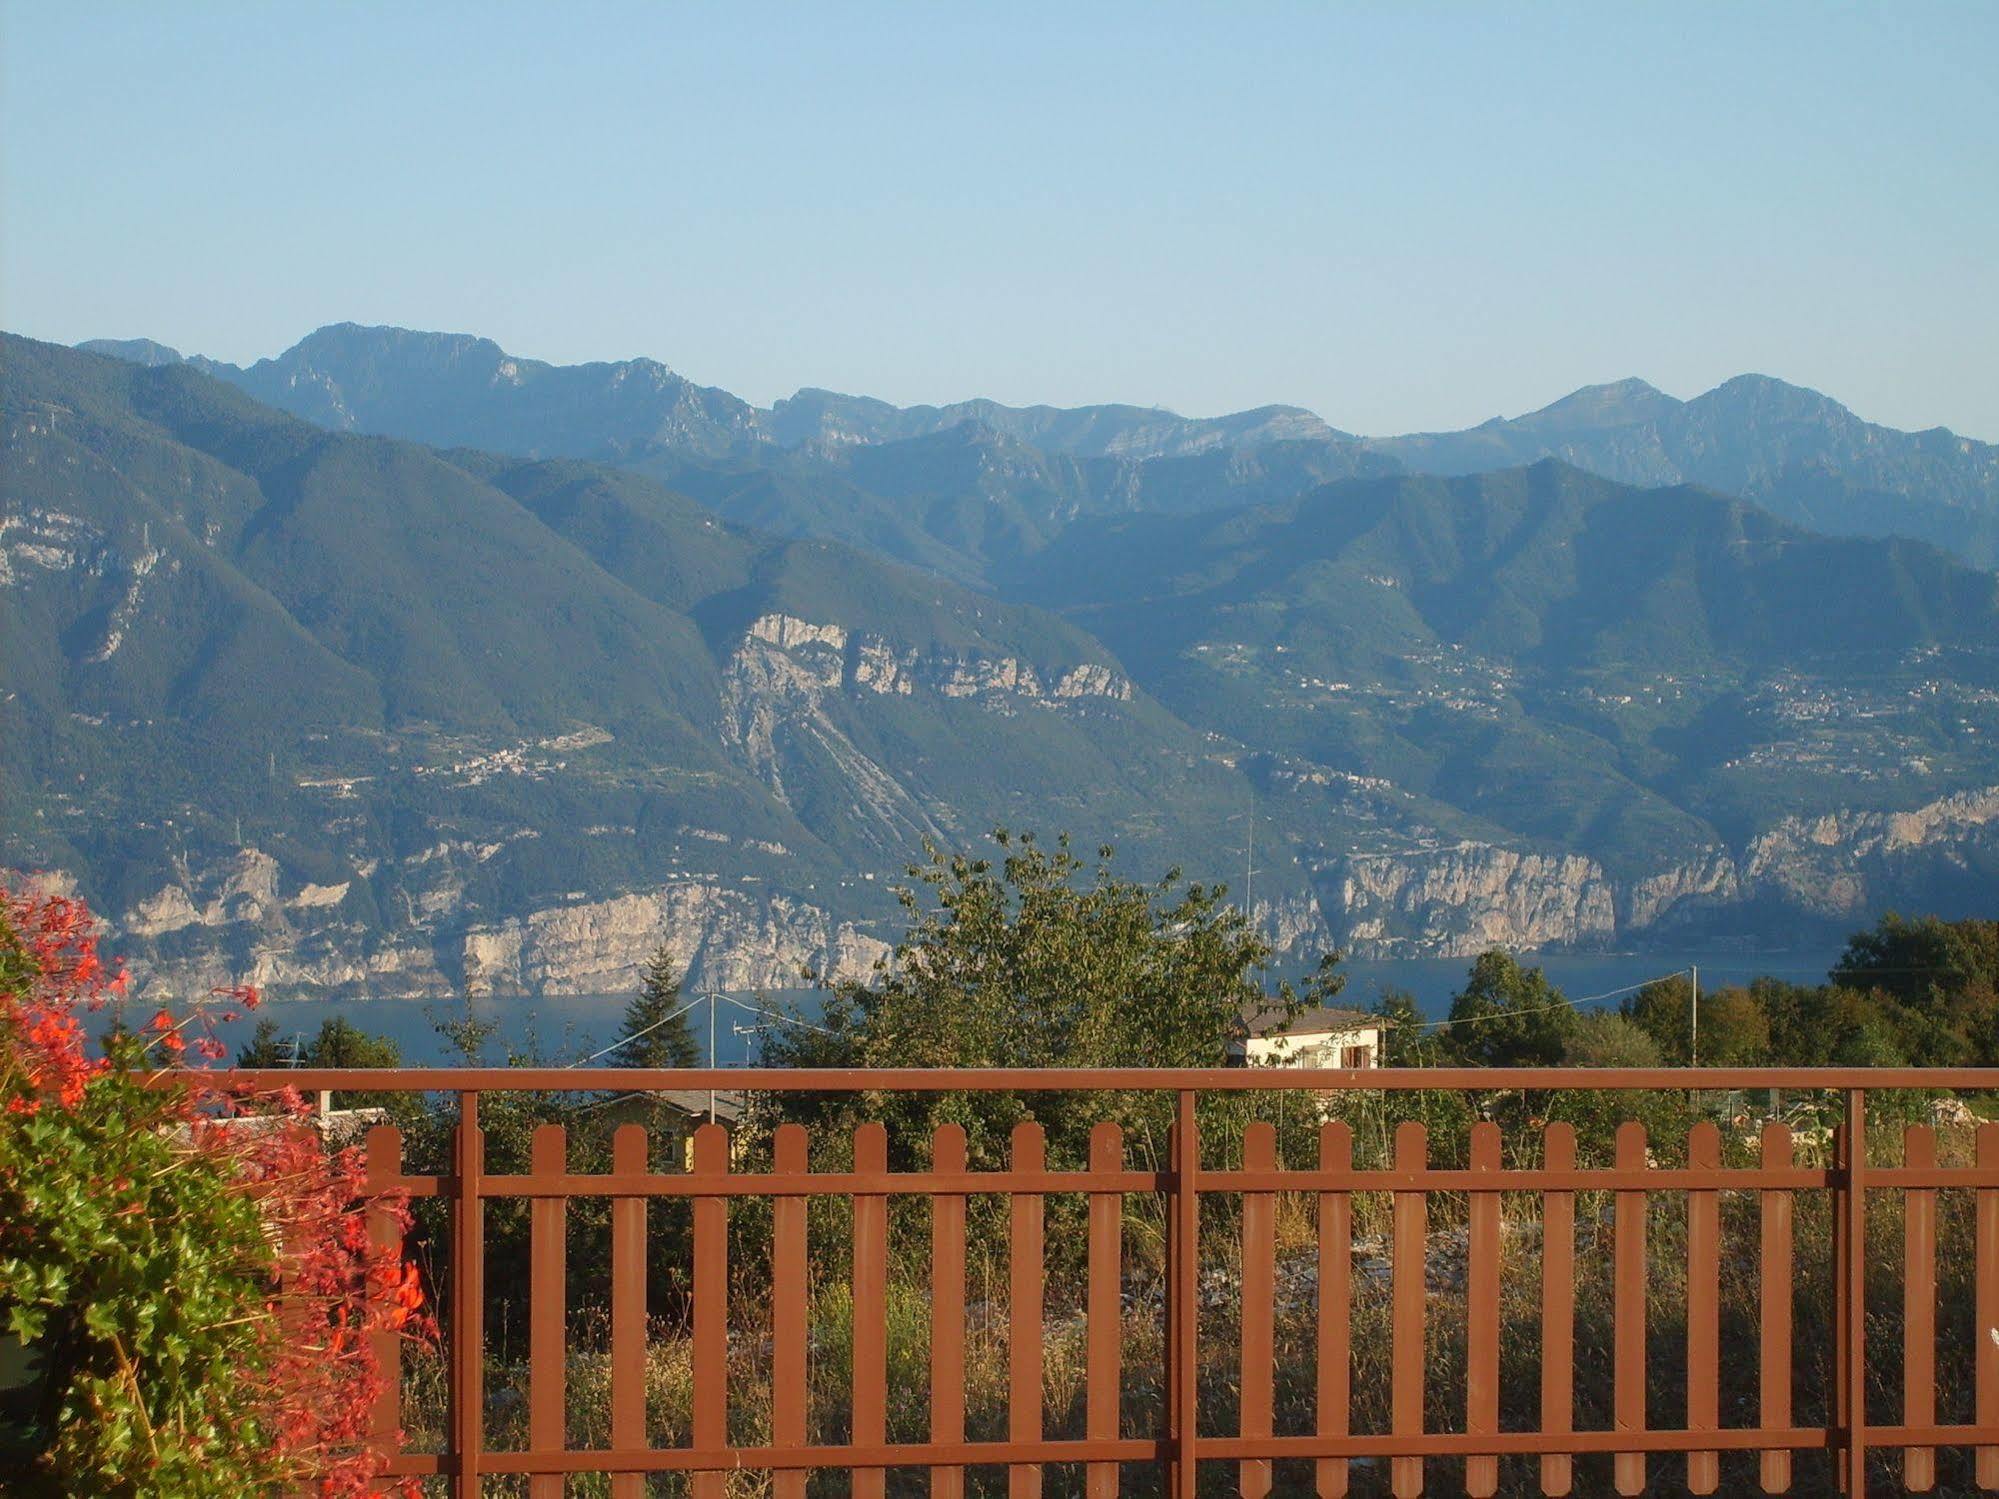
[[[370,1495],[376,1335],[428,1337],[408,1227],[296,1093],[224,1095],[210,1013],[84,1013],[82,901],[0,887],[0,1471],[24,1495]],[[252,991],[226,999],[254,1005]],[[412,1485],[394,1487],[414,1493]]]

